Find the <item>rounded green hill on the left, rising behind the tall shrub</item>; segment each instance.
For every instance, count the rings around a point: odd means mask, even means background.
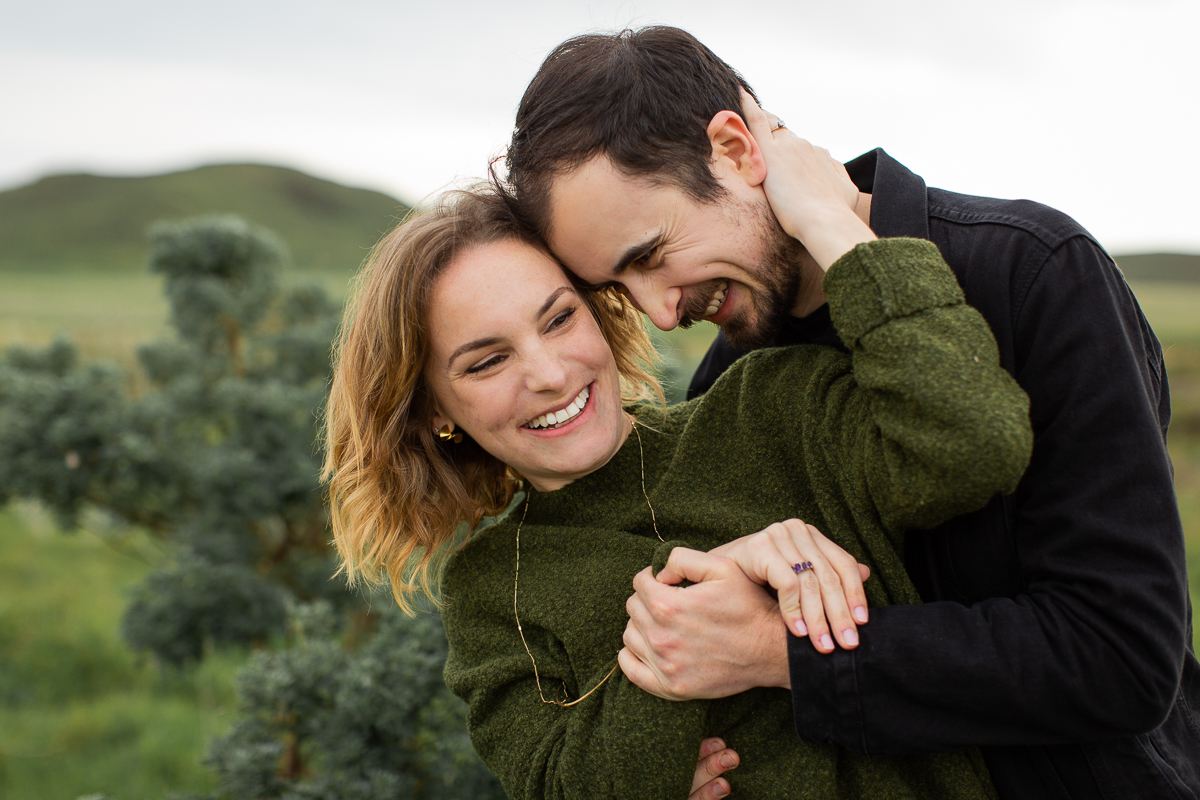
[[[140,273],[158,219],[236,213],[280,234],[305,271],[348,273],[408,206],[283,167],[167,175],[53,175],[0,192],[0,272]]]

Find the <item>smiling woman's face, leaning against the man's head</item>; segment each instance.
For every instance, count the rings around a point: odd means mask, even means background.
[[[629,435],[612,350],[538,248],[499,241],[460,254],[433,285],[430,336],[431,425],[454,422],[536,489],[599,469]]]

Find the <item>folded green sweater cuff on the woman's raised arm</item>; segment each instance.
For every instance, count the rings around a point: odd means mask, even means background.
[[[924,239],[863,242],[833,263],[822,288],[850,348],[892,319],[964,302],[937,246]]]

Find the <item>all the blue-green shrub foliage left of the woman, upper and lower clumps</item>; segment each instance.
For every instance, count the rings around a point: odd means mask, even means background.
[[[283,645],[240,676],[215,796],[502,798],[442,682],[437,619],[390,600],[367,614],[330,579],[316,439],[340,309],[319,289],[282,293],[286,258],[236,218],[156,225],[175,336],[139,350],[143,375],[80,363],[65,341],[5,354],[0,504],[37,499],[68,528],[100,507],[168,546],[125,612],[134,650],[184,668]]]

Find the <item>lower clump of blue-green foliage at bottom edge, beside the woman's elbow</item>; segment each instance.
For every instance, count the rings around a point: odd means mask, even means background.
[[[295,644],[254,655],[239,679],[244,716],[214,742],[216,798],[503,798],[467,738],[464,704],[442,682],[438,619],[394,606],[348,650],[328,601],[298,608]]]

